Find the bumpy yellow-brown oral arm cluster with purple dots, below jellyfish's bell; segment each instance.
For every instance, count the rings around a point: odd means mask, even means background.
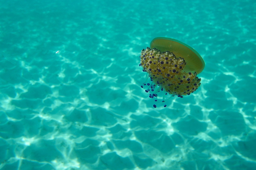
[[[184,58],[176,57],[170,51],[161,52],[149,47],[141,51],[141,66],[149,74],[152,81],[166,92],[178,97],[189,95],[199,86],[201,79],[197,73],[183,71],[186,62]]]

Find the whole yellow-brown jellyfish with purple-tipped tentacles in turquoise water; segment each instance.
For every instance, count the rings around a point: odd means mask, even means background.
[[[141,51],[140,64],[150,83],[141,88],[157,101],[160,91],[165,95],[183,97],[195,92],[201,85],[197,75],[205,67],[203,58],[190,46],[175,39],[157,37]],[[153,105],[156,108],[156,105]],[[166,105],[164,105],[166,107]]]

